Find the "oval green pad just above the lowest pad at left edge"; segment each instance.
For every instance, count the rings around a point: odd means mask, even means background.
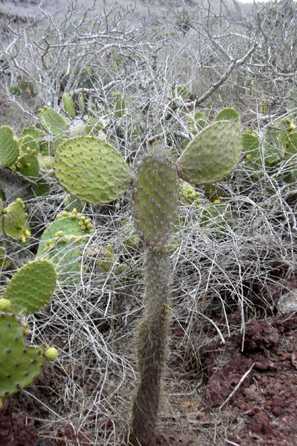
[[[8,286],[3,298],[25,309],[28,314],[39,311],[50,299],[56,286],[56,271],[50,261],[34,260],[18,270]]]

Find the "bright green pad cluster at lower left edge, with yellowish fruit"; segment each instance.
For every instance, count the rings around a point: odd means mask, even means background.
[[[52,263],[38,260],[18,270],[0,299],[0,398],[8,397],[31,384],[45,360],[54,360],[58,351],[29,345],[30,329],[23,313],[33,313],[48,301],[56,285]],[[16,314],[8,313],[11,311]]]

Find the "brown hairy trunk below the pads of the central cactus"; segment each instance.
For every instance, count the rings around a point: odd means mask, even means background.
[[[168,331],[168,255],[165,250],[146,252],[144,261],[146,314],[140,322],[138,363],[140,384],[133,404],[135,444],[149,446],[155,435],[160,381]]]

